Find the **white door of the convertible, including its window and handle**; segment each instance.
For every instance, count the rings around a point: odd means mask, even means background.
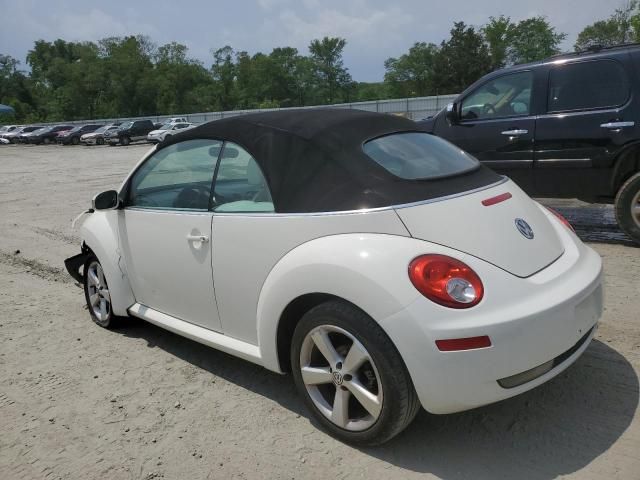
[[[119,231],[138,303],[220,330],[211,270],[211,185],[222,143],[154,152],[127,182]]]

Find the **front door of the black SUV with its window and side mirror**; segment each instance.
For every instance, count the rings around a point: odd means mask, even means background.
[[[536,128],[533,83],[529,70],[487,80],[458,102],[459,121],[440,121],[434,133],[529,189]]]

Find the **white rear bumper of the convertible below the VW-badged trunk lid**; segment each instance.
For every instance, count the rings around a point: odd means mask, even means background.
[[[602,314],[602,263],[573,234],[563,236],[570,240],[566,253],[526,279],[472,265],[488,279],[477,307],[434,317],[433,305],[419,298],[381,322],[427,411],[459,412],[526,392],[560,374],[587,349]],[[489,282],[492,275],[497,280]],[[442,352],[435,345],[440,339],[484,335],[490,347]]]

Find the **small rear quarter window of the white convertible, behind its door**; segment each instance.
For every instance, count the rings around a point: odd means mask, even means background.
[[[273,212],[267,181],[258,162],[235,143],[225,143],[213,193],[216,212]]]

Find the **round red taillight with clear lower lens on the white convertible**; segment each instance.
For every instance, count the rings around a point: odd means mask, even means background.
[[[450,308],[469,308],[482,300],[484,287],[471,268],[446,255],[421,255],[409,264],[409,279],[429,300]]]

